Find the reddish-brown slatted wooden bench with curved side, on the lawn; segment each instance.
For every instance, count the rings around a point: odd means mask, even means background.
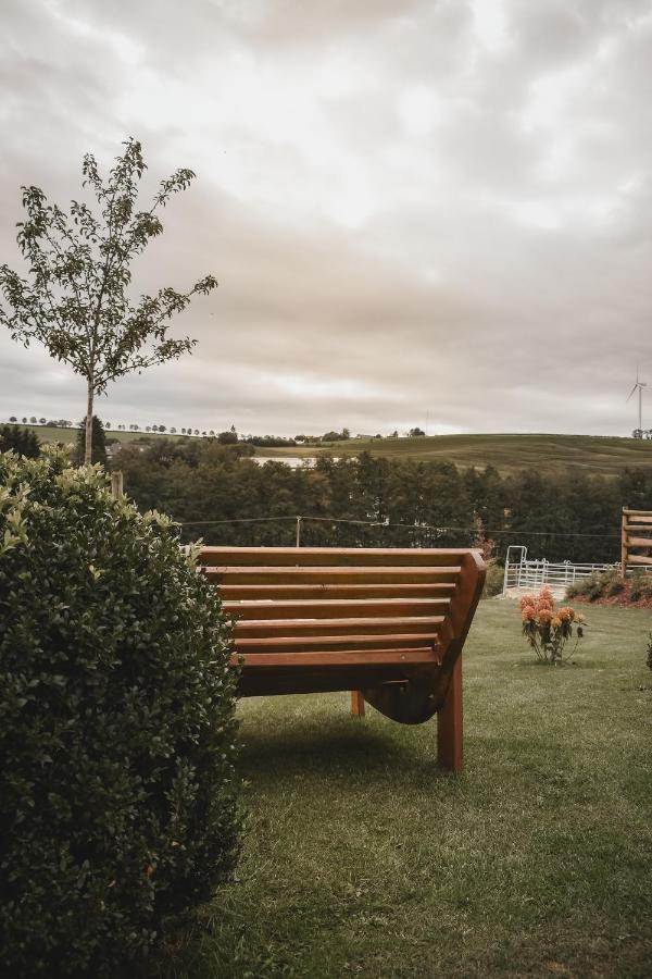
[[[469,549],[203,547],[235,622],[242,696],[350,690],[401,723],[438,716],[462,769],[461,653],[485,565]]]

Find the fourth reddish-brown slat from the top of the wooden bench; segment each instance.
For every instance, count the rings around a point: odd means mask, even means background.
[[[279,602],[225,602],[227,616],[238,621],[248,619],[337,619],[350,616],[396,617],[428,616],[446,612],[448,598],[349,598],[343,599],[287,599]]]

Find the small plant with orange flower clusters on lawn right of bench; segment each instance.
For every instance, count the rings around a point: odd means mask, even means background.
[[[542,588],[538,595],[524,595],[521,618],[523,634],[541,662],[565,662],[584,636],[585,617],[568,606],[555,608],[550,588]],[[568,641],[574,637],[573,648],[564,655]]]

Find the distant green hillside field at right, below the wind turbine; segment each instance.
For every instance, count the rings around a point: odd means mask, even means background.
[[[284,456],[314,457],[324,453],[355,456],[400,456],[422,461],[451,460],[460,467],[488,464],[501,473],[527,467],[560,470],[580,466],[595,474],[615,475],[623,467],[652,464],[652,442],[602,435],[430,435],[417,438],[351,438],[321,446],[294,446],[288,449],[260,449],[283,459]]]

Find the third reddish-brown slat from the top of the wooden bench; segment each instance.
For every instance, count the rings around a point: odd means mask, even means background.
[[[442,584],[235,584],[217,585],[223,602],[279,598],[447,598],[453,583]]]

